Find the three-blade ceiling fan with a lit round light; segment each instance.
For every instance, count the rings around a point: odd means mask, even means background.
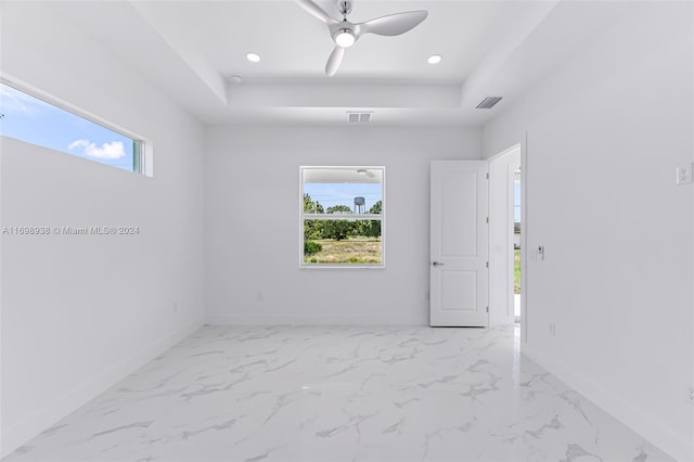
[[[337,0],[337,10],[343,15],[343,21],[335,20],[320,8],[313,0],[295,0],[299,7],[309,14],[321,20],[327,25],[330,35],[335,42],[335,48],[325,64],[325,74],[334,76],[345,56],[345,50],[352,44],[362,34],[376,34],[380,36],[399,36],[417,26],[426,20],[426,10],[407,11],[377,17],[365,23],[350,23],[347,15],[351,12],[351,0]]]

